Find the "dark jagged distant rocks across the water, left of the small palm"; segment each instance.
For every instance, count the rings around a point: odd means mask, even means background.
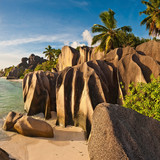
[[[38,64],[46,60],[42,57],[31,54],[29,58],[22,58],[21,63],[14,67],[8,74],[7,79],[18,79],[26,69],[34,70]]]

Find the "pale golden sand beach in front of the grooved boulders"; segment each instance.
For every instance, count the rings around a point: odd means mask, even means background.
[[[0,147],[16,160],[89,160],[81,128],[54,126],[53,130],[54,138],[33,138],[1,129]]]

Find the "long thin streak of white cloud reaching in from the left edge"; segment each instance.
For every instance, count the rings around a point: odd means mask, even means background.
[[[59,35],[41,35],[37,37],[31,38],[21,38],[21,39],[13,39],[13,40],[6,40],[0,41],[0,46],[12,46],[12,45],[20,45],[20,44],[27,44],[33,42],[64,42],[67,38],[69,38],[69,34],[59,34]]]

